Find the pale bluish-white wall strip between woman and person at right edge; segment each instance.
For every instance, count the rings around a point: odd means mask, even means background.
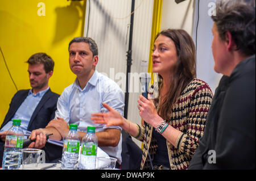
[[[214,94],[222,75],[217,74],[214,71],[214,60],[211,47],[213,39],[213,20],[209,15],[210,10],[212,9],[212,2],[214,2],[214,0],[196,0],[193,39],[195,42],[197,41],[197,77],[207,82]]]

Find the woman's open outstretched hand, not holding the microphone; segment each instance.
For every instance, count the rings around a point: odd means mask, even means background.
[[[119,126],[122,127],[125,120],[123,116],[106,103],[102,105],[109,110],[106,113],[92,113],[91,119],[97,124],[106,124],[107,127]]]

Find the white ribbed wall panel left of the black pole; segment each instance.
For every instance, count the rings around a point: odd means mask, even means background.
[[[86,5],[85,35],[92,37],[99,49],[99,62],[96,69],[110,76],[110,68],[115,73],[126,72],[126,33],[130,18],[131,1],[127,0],[90,0]],[[89,16],[89,28],[88,26]]]

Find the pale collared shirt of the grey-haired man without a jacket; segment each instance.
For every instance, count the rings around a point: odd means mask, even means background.
[[[103,132],[104,129],[120,127],[106,127],[105,124],[95,124],[90,119],[92,113],[108,112],[102,105],[108,104],[123,116],[124,96],[121,88],[112,79],[94,71],[88,83],[81,89],[76,79],[72,85],[64,89],[57,102],[56,117],[62,117],[69,124],[77,124],[77,131],[87,132],[87,127],[96,127],[96,132]],[[122,162],[122,136],[118,146],[101,146],[101,149],[110,156]]]

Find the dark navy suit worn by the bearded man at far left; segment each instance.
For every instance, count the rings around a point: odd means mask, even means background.
[[[11,119],[15,115],[15,112],[26,99],[28,92],[29,90],[19,90],[18,92],[16,92],[16,94],[13,96],[13,99],[11,99],[9,110],[5,116],[5,120],[3,120],[1,128],[9,121],[11,121]],[[46,94],[44,94],[31,116],[30,123],[28,123],[27,127],[28,131],[45,128],[49,121],[54,119],[55,111],[57,109],[57,100],[59,96],[59,94],[52,92],[51,89],[49,89]],[[61,159],[62,149],[63,148],[61,146],[47,143],[46,146],[44,146],[43,148],[43,150],[46,151],[46,162],[52,162],[57,159]],[[2,151],[3,150],[1,149],[0,152]],[[1,155],[2,154],[0,154],[0,161],[2,159]]]

